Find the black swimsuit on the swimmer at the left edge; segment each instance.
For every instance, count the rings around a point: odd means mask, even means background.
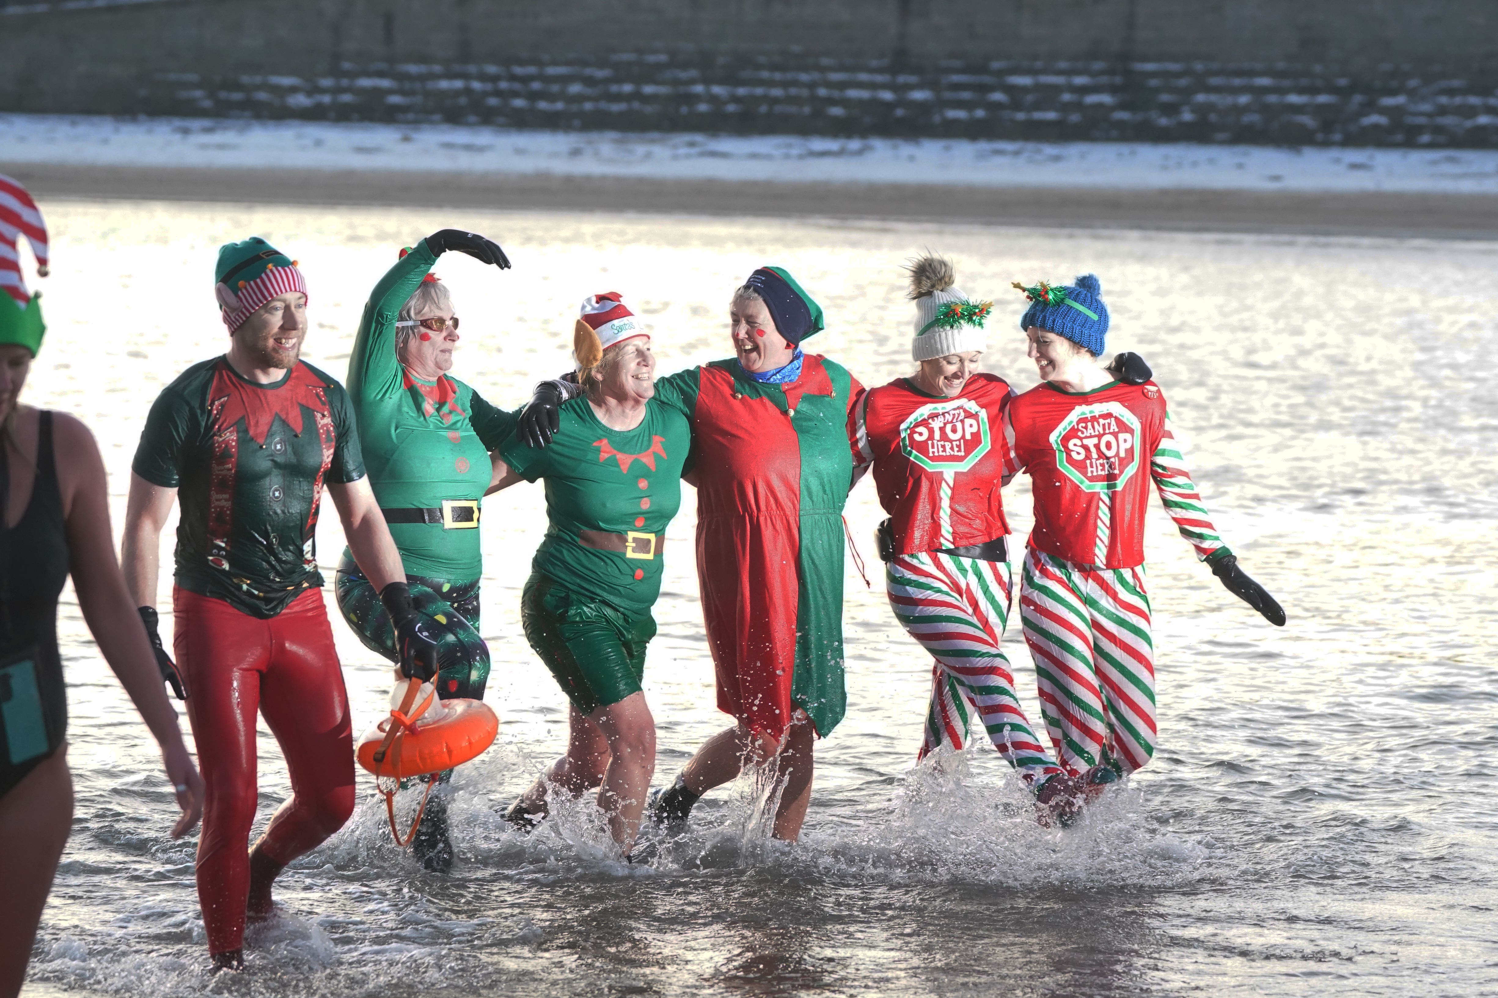
[[[9,497],[9,450],[0,440],[0,796],[57,751],[67,732],[67,691],[57,654],[67,527],[49,411],[39,414],[31,500],[7,528]]]

